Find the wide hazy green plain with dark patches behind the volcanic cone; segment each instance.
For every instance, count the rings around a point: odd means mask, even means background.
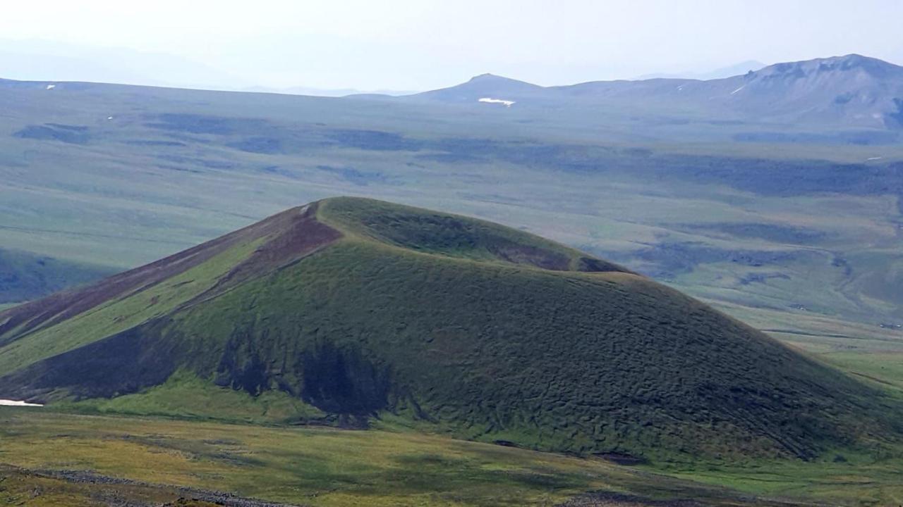
[[[903,351],[901,145],[832,141],[843,133],[822,121],[772,135],[647,101],[638,114],[16,81],[0,104],[0,244],[35,258],[119,272],[360,195],[524,227],[816,352]]]

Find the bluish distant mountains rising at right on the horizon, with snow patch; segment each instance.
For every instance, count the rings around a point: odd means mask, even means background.
[[[903,67],[851,54],[777,63],[720,79],[653,78],[541,87],[484,74],[406,100],[548,109],[581,107],[709,120],[903,128]]]

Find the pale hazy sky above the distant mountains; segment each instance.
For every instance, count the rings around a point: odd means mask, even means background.
[[[901,19],[900,0],[42,0],[4,3],[0,51],[63,42],[107,67],[122,53],[86,47],[166,53],[276,88],[441,88],[483,72],[552,85],[851,52],[903,63]],[[171,67],[148,73],[184,81]]]

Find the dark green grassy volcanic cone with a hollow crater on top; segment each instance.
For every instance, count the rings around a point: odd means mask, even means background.
[[[582,454],[812,457],[898,434],[881,392],[617,264],[360,198],[5,310],[0,397]]]

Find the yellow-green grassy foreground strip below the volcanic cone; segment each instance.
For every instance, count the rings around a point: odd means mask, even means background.
[[[0,408],[2,505],[889,505],[897,459],[618,466],[441,436]],[[761,497],[756,496],[761,495]],[[250,500],[255,499],[255,500]],[[693,499],[695,502],[686,502]]]

